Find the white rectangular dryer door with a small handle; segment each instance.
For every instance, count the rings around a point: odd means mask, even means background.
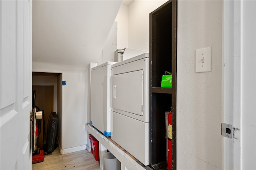
[[[113,75],[111,84],[112,109],[143,116],[143,70]]]

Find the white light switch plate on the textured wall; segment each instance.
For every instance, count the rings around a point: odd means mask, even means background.
[[[196,73],[212,71],[212,47],[196,49]]]

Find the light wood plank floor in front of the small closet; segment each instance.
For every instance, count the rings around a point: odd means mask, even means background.
[[[32,164],[32,170],[100,170],[100,163],[87,150],[61,155],[56,148],[44,156],[44,162]]]

